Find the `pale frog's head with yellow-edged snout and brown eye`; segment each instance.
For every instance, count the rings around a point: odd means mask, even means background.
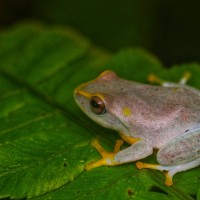
[[[119,77],[113,71],[101,73],[95,80],[81,84],[74,90],[74,98],[81,110],[98,124],[127,131],[121,120],[111,112],[113,108],[113,90]]]

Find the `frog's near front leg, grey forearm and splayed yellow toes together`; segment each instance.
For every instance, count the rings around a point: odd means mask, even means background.
[[[86,166],[86,170],[96,168],[102,165],[120,165],[123,163],[136,161],[145,158],[153,153],[153,148],[145,141],[140,140],[130,147],[120,151],[120,147],[123,144],[122,140],[117,140],[114,152],[108,152],[103,149],[98,140],[92,142],[97,151],[101,154],[102,158],[97,162],[89,163]]]

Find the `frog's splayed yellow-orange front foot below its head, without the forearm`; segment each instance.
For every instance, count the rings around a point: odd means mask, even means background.
[[[106,151],[100,145],[100,143],[99,143],[99,141],[97,139],[93,140],[91,144],[100,153],[100,155],[102,156],[102,158],[100,160],[96,161],[96,162],[92,162],[92,163],[87,164],[86,167],[85,167],[85,169],[87,171],[91,170],[93,168],[96,168],[96,167],[103,166],[103,165],[112,166],[112,165],[118,165],[118,164],[120,164],[119,162],[115,161],[114,157],[115,157],[116,153],[120,151],[120,147],[123,144],[122,140],[117,140],[116,141],[114,152],[108,152],[108,151]]]

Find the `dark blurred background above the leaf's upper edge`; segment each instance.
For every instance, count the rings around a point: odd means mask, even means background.
[[[0,0],[0,28],[22,20],[76,29],[115,52],[142,47],[166,66],[200,62],[199,0]]]

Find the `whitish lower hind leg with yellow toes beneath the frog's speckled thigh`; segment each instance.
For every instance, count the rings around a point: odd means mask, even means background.
[[[166,177],[165,184],[167,186],[173,185],[173,176],[181,171],[186,171],[192,168],[195,168],[200,165],[200,158],[178,166],[162,166],[162,165],[157,165],[157,164],[148,164],[148,163],[143,163],[143,162],[137,162],[136,166],[138,169],[143,169],[143,168],[148,168],[148,169],[155,169],[155,170],[160,170],[164,172],[164,175]]]

